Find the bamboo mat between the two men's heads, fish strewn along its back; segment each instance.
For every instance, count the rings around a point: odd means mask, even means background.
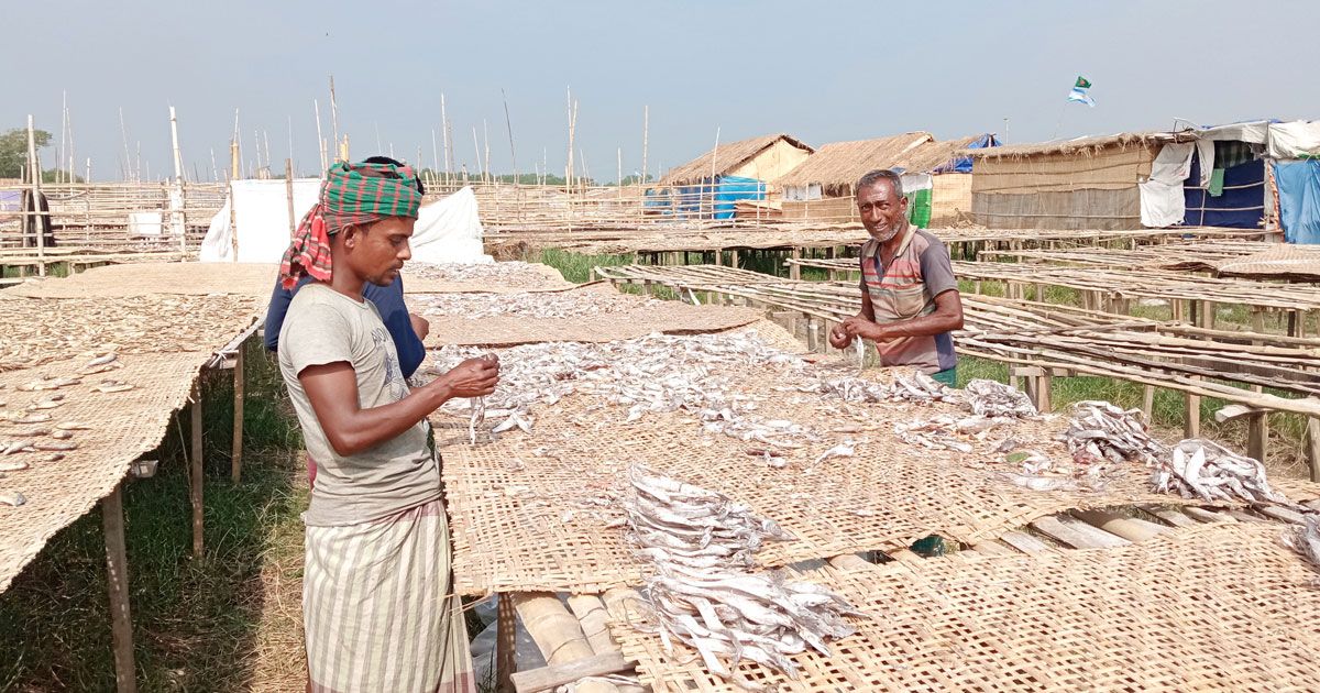
[[[491,293],[486,296],[494,304],[512,302],[507,294]],[[651,333],[722,331],[750,325],[762,317],[760,312],[746,308],[648,301],[640,296],[620,293],[606,284],[582,285],[553,294],[537,293],[535,297],[541,297],[546,305],[553,301],[556,305],[570,306],[574,301],[579,301],[581,309],[573,312],[569,308],[560,312],[562,317],[535,317],[535,313],[523,312],[523,314],[508,313],[482,318],[455,315],[432,318],[426,346],[436,348],[446,345],[515,346],[537,342],[612,342],[644,337]],[[609,304],[611,309],[591,312],[589,306],[593,302]]]

